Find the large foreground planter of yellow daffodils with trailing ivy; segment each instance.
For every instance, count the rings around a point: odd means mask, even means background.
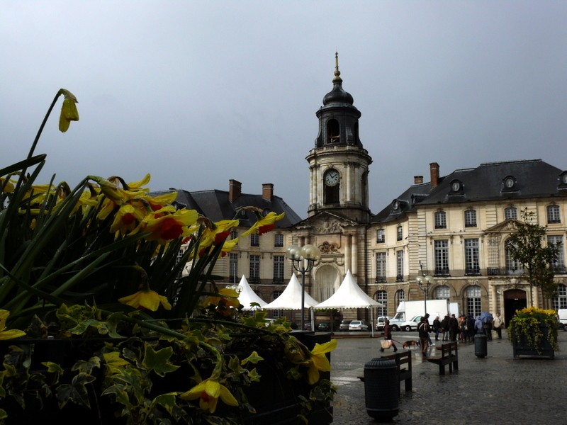
[[[336,341],[305,345],[215,285],[238,220],[152,197],[150,176],[35,183],[35,147],[61,96],[60,130],[79,119],[77,99],[58,91],[28,157],[0,169],[0,421],[332,421]],[[281,218],[250,210],[248,234]]]

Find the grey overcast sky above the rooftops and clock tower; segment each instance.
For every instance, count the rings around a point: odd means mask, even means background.
[[[567,1],[15,1],[0,4],[1,166],[26,157],[60,88],[79,123],[42,183],[152,174],[152,190],[274,183],[307,216],[315,112],[343,88],[374,159],[371,210],[482,162],[567,169]]]

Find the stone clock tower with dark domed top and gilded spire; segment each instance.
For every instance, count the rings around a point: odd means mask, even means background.
[[[316,113],[319,134],[306,158],[310,170],[308,215],[329,211],[368,222],[368,173],[372,159],[359,139],[361,113],[353,106],[352,96],[342,89],[340,74],[335,53],[332,90]]]

